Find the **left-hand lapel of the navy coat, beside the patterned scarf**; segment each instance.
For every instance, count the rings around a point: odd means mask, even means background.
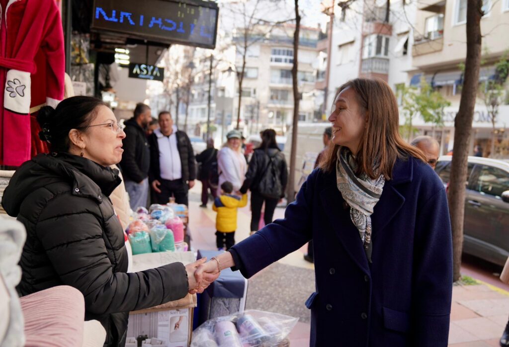
[[[327,179],[332,177],[334,180],[333,184],[327,182],[327,188],[320,193],[324,210],[347,253],[362,271],[370,273],[359,232],[350,219],[350,210],[343,207],[345,200],[336,187],[335,173],[334,175],[327,175],[326,177]]]

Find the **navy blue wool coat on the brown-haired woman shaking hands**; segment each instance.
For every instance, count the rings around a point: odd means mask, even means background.
[[[453,251],[436,173],[397,160],[372,215],[371,264],[343,203],[335,172],[316,169],[284,219],[230,249],[236,268],[249,278],[313,239],[311,346],[447,346]]]

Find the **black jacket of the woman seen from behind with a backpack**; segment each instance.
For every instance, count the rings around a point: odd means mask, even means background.
[[[281,182],[282,194],[281,198],[285,196],[286,185],[288,182],[288,168],[285,160],[285,155],[277,148],[269,148],[267,152],[265,150],[257,148],[254,150],[251,160],[249,161],[249,167],[246,172],[246,179],[240,188],[240,192],[245,194],[247,189],[251,191],[258,191],[258,184],[262,180],[265,174],[270,158],[273,157],[274,166],[277,168],[279,173],[279,180]]]

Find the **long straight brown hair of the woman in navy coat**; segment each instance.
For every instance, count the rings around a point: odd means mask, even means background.
[[[352,79],[337,90],[334,100],[347,88],[355,92],[357,102],[366,115],[366,128],[355,158],[357,176],[363,172],[371,179],[383,175],[386,180],[390,180],[396,159],[412,156],[423,162],[427,161],[418,148],[410,146],[401,138],[398,131],[400,122],[398,103],[387,83],[381,79]],[[339,147],[330,143],[320,162],[322,170],[327,172],[335,170]]]

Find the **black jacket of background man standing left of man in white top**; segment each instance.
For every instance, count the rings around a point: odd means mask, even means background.
[[[126,137],[122,140],[124,154],[120,162],[125,180],[142,182],[149,175],[150,148],[145,130],[131,118],[125,122]]]

